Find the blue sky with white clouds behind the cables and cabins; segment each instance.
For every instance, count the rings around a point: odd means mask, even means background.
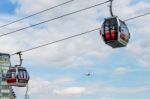
[[[58,5],[66,0],[1,0],[0,25]],[[8,33],[105,0],[74,0],[64,6],[0,28]],[[0,38],[2,53],[15,53],[101,26],[110,16],[104,4]],[[149,12],[149,0],[114,0],[120,19]],[[112,49],[95,31],[23,53],[30,74],[30,99],[150,99],[150,16],[126,22],[131,33],[127,47]],[[11,56],[12,66],[18,56]],[[92,75],[87,77],[87,73]],[[17,99],[25,88],[13,87]]]

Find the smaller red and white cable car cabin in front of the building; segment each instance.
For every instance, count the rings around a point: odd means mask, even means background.
[[[29,74],[24,67],[11,67],[7,71],[6,81],[10,86],[25,87],[29,81]]]

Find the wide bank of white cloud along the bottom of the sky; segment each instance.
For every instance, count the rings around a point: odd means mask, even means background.
[[[77,79],[76,79],[77,80]],[[44,78],[34,78],[29,82],[29,95],[35,99],[68,99],[68,97],[82,97],[83,95],[104,95],[104,94],[138,94],[150,90],[149,86],[140,87],[118,87],[105,83],[89,83],[74,85],[75,79],[69,77],[56,78],[48,80]],[[25,88],[15,88],[15,92],[19,96],[23,96]],[[59,99],[58,98],[58,99]],[[114,99],[110,97],[102,97],[102,99]]]

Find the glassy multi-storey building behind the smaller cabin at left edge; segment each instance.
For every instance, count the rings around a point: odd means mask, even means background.
[[[10,63],[10,55],[0,53],[0,99],[15,99],[15,94],[11,86],[7,85],[6,73]]]

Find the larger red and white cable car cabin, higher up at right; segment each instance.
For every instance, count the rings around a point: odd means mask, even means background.
[[[100,34],[104,42],[112,48],[125,47],[130,38],[127,25],[118,17],[106,18],[101,27]]]

